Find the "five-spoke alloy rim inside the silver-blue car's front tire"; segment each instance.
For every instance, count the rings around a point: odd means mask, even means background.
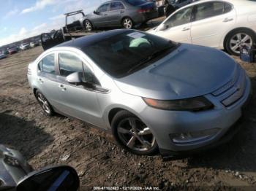
[[[117,133],[122,143],[135,151],[148,151],[154,147],[156,141],[151,130],[135,117],[121,120]]]

